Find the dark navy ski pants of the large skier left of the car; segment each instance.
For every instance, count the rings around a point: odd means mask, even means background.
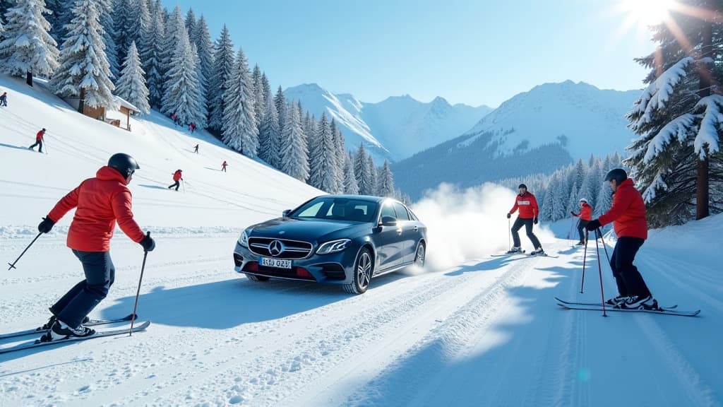
[[[63,295],[50,311],[69,327],[80,327],[83,318],[108,295],[116,279],[116,268],[108,251],[79,251],[73,254],[80,260],[85,280]]]

